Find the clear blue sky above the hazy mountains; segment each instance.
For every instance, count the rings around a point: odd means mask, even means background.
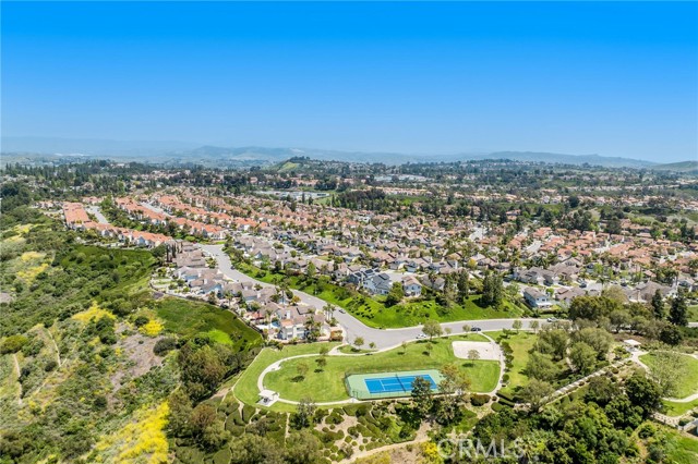
[[[698,158],[698,4],[2,2],[2,133]]]

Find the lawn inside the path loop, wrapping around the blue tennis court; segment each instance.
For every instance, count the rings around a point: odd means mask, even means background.
[[[434,340],[431,354],[428,351],[430,342],[422,341],[409,343],[405,353],[402,347],[397,347],[363,356],[328,356],[323,370],[317,369],[317,356],[290,359],[282,363],[279,370],[266,375],[264,387],[279,392],[286,400],[311,398],[315,402],[341,401],[349,399],[344,382],[347,373],[440,369],[446,364],[456,363],[470,378],[472,391],[493,390],[500,377],[498,362],[459,359],[454,356],[452,342],[448,339]],[[301,380],[298,379],[299,364],[305,364],[309,368]]]

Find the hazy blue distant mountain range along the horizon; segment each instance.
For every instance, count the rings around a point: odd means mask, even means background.
[[[168,166],[200,163],[204,166],[252,166],[276,163],[292,157],[303,156],[326,161],[383,162],[400,164],[406,162],[454,162],[484,159],[509,159],[524,162],[561,164],[591,164],[606,168],[652,168],[679,172],[693,172],[698,161],[672,164],[657,164],[630,158],[604,157],[600,155],[565,155],[534,151],[461,152],[452,155],[406,155],[397,152],[340,151],[314,148],[268,148],[268,147],[219,147],[190,142],[172,141],[110,141],[59,137],[13,137],[3,136],[3,157],[22,159],[27,154],[41,155],[45,160],[85,157],[110,158],[115,160],[137,160]],[[4,160],[8,162],[8,159]]]

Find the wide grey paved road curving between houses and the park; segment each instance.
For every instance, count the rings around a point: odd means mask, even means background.
[[[230,262],[230,257],[222,251],[222,245],[202,245],[202,248],[208,253],[210,256],[216,258],[218,262],[218,269],[224,273],[224,276],[238,280],[238,281],[254,281],[258,282],[262,286],[274,286],[269,283],[261,282],[258,280],[252,279],[251,277],[240,272],[237,269],[232,269],[232,265]],[[305,292],[301,292],[294,290],[293,293],[298,295],[301,302],[315,306],[316,308],[324,307],[327,303],[317,296],[310,295]],[[373,342],[376,345],[376,349],[386,349],[390,346],[398,346],[404,341],[414,340],[417,335],[422,333],[421,327],[407,327],[404,329],[374,329],[372,327],[368,327],[363,322],[361,322],[356,317],[351,316],[349,313],[340,313],[339,310],[335,310],[335,318],[339,322],[339,325],[345,329],[347,333],[347,340],[352,342],[357,337],[363,338],[365,345]],[[485,320],[461,320],[457,322],[445,322],[442,323],[442,328],[449,328],[452,333],[462,333],[462,326],[469,325],[471,327],[480,327],[482,330],[502,330],[502,329],[512,329],[512,326],[516,319],[485,319]],[[544,320],[540,319],[520,319],[524,321],[524,328],[528,328],[530,321],[538,320],[541,325],[545,325]]]

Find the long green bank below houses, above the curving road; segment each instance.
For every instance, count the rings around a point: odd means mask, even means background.
[[[275,279],[284,279],[285,274],[263,271],[254,266],[237,264],[236,268],[248,276],[263,282],[273,283]],[[336,285],[328,281],[308,281],[291,276],[287,278],[289,286],[315,295],[333,305],[342,307],[369,327],[400,328],[417,326],[426,319],[440,322],[457,320],[480,320],[496,318],[515,318],[524,312],[510,302],[505,302],[503,310],[479,306],[480,296],[471,295],[462,305],[452,305],[449,308],[440,306],[433,300],[407,301],[400,305],[386,307],[385,297],[370,297],[354,290]]]

